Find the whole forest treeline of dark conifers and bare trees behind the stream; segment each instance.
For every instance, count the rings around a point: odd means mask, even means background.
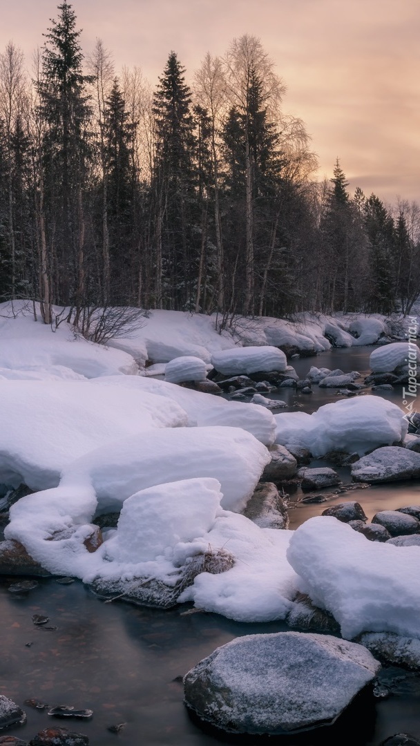
[[[57,6],[31,78],[0,52],[0,301],[247,316],[410,313],[420,207],[348,192],[337,158],[316,180],[300,119],[256,37],[204,57],[175,51],[153,89],[84,57]]]

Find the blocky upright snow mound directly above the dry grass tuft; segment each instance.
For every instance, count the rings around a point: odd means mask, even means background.
[[[179,542],[192,542],[212,527],[220,508],[220,483],[189,479],[143,489],[125,500],[107,558],[156,560]]]

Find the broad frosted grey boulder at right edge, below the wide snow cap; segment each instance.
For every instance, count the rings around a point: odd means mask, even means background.
[[[377,448],[351,466],[351,476],[371,484],[420,477],[420,454],[395,445]]]

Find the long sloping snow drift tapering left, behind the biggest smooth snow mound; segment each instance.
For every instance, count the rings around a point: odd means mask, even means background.
[[[94,386],[122,386],[125,389],[164,396],[187,412],[189,427],[242,427],[264,445],[272,445],[275,441],[276,423],[272,413],[256,404],[227,401],[213,394],[184,389],[174,383],[143,376],[101,377],[90,383]]]

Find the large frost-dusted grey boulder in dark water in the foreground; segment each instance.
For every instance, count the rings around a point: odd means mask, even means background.
[[[333,723],[379,668],[366,648],[336,637],[250,635],[188,671],[184,701],[229,733],[295,733]]]

